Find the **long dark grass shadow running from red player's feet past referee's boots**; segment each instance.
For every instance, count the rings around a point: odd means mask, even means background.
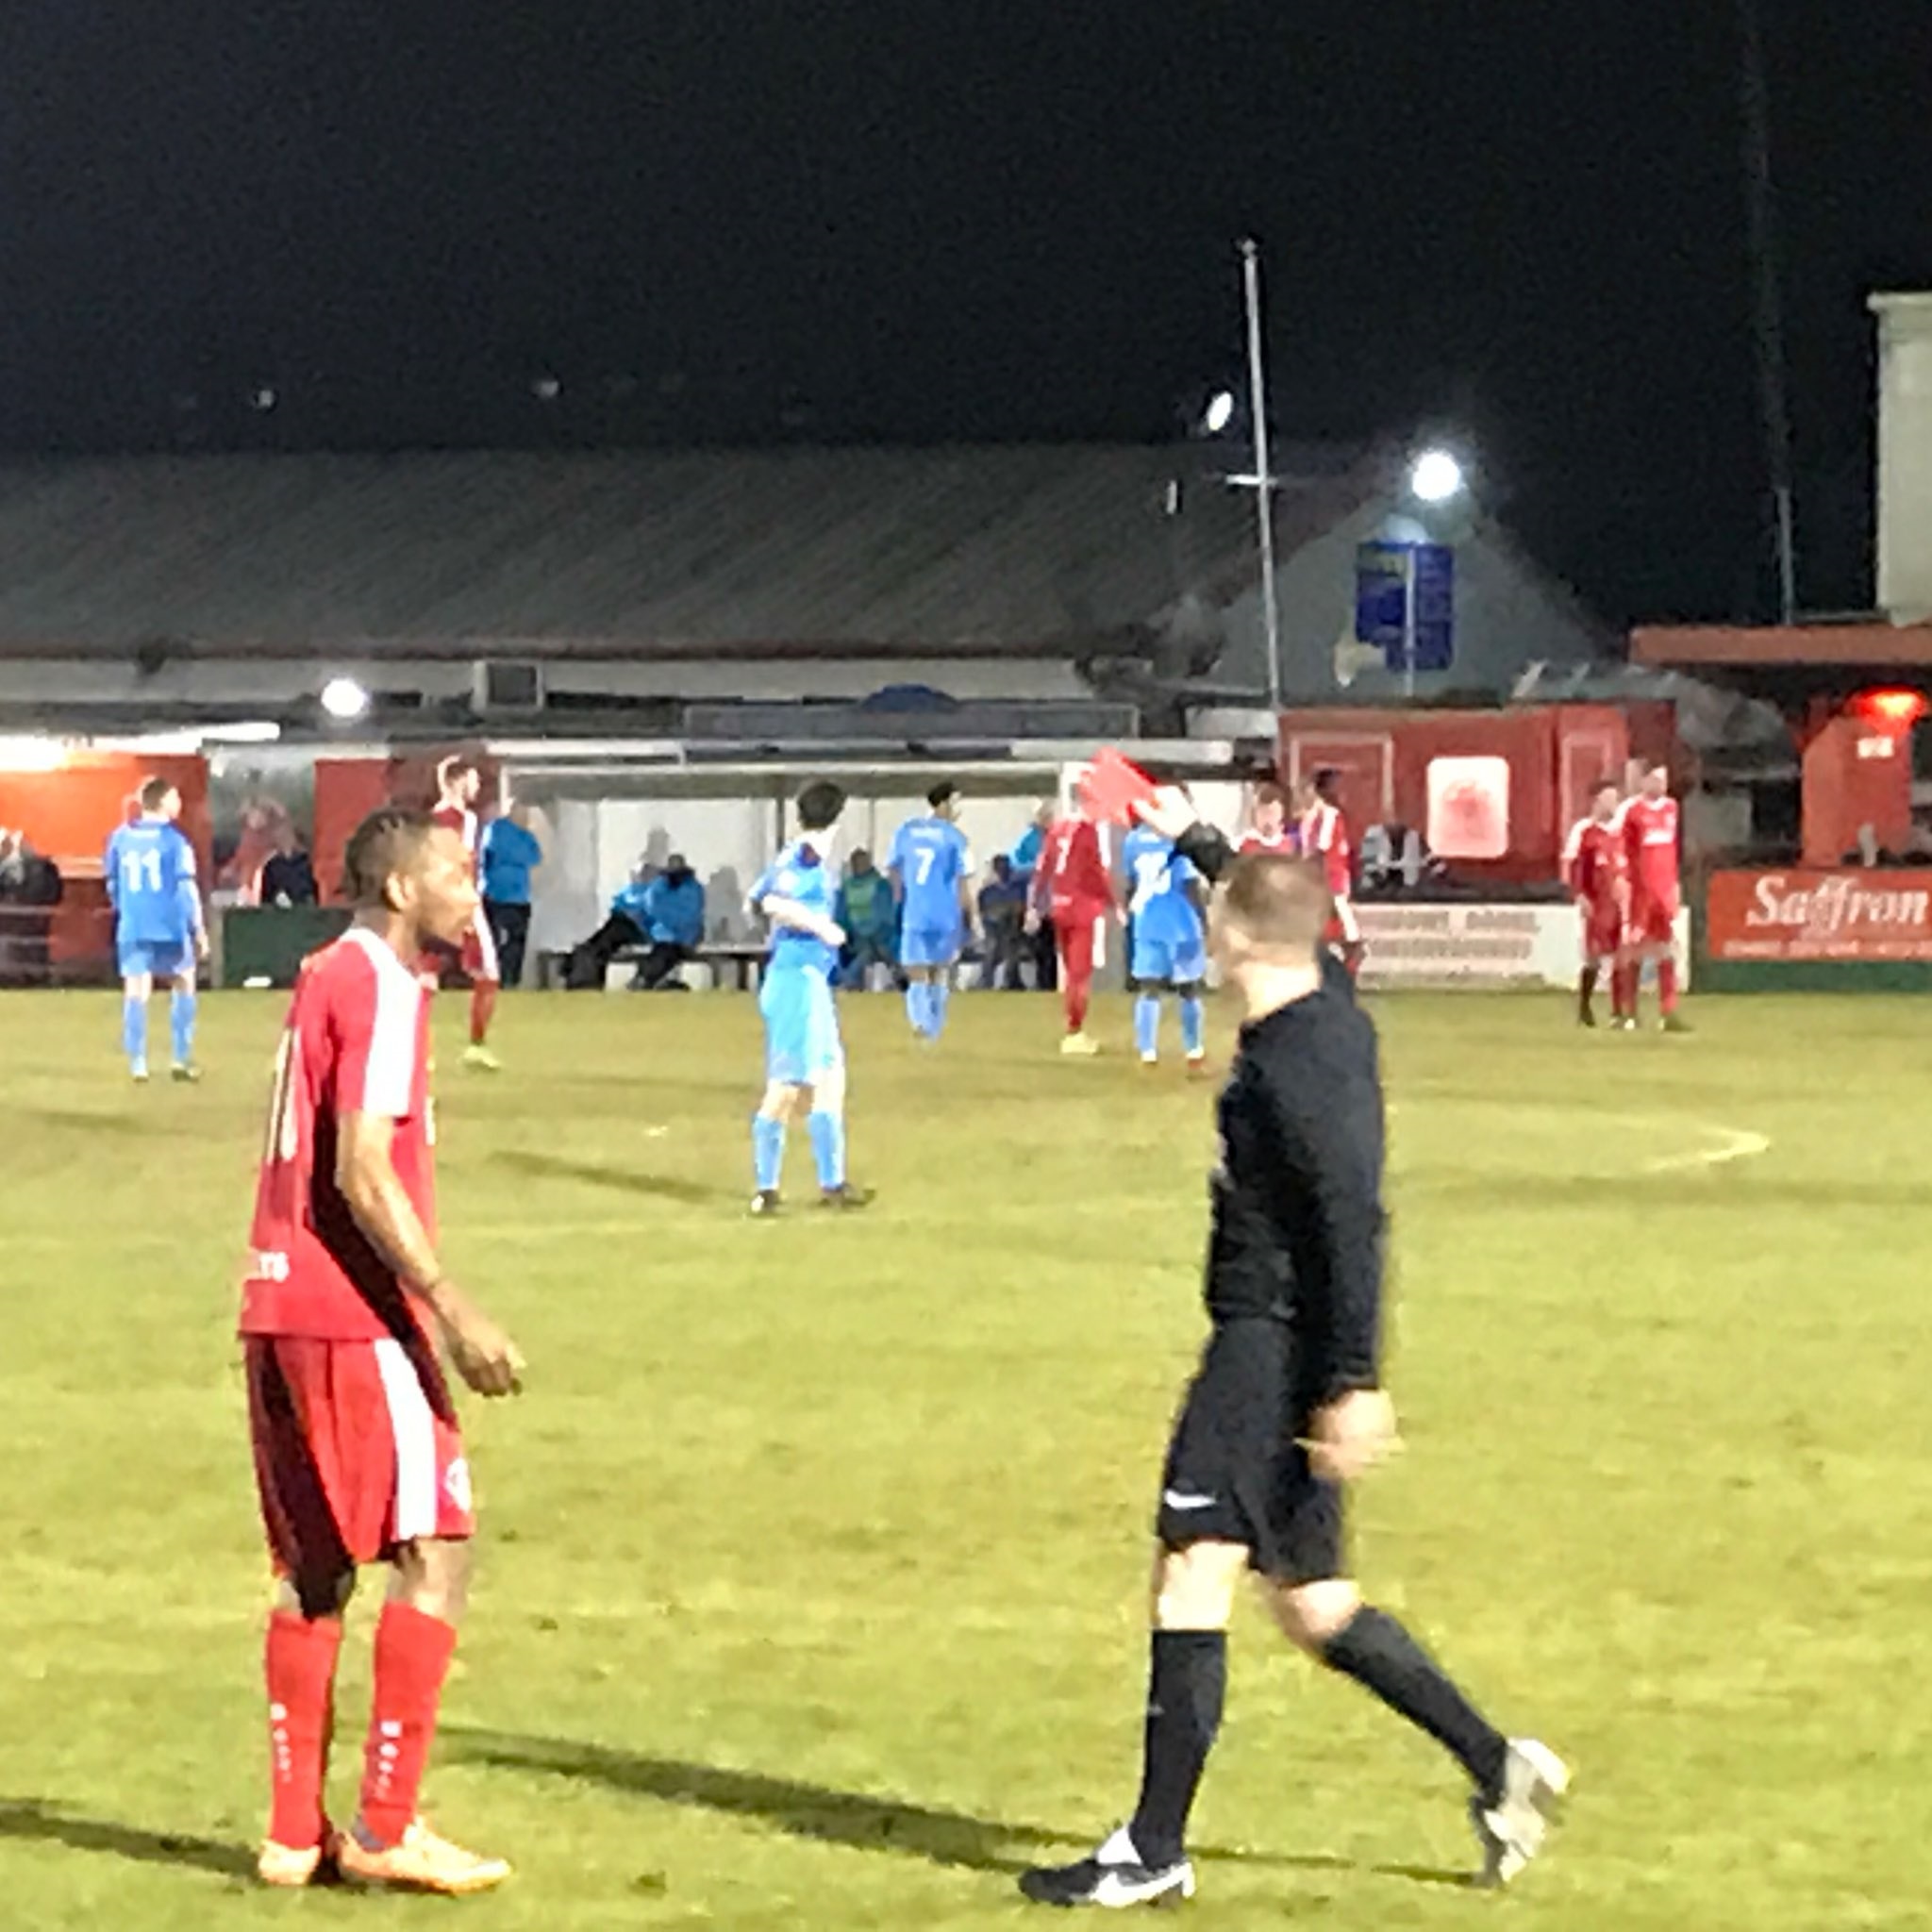
[[[605,1785],[611,1791],[659,1799],[665,1804],[692,1804],[732,1818],[755,1818],[788,1832],[792,1837],[848,1845],[854,1851],[898,1853],[954,1870],[1018,1876],[1028,1864],[1039,1862],[1047,1847],[1090,1843],[1078,1832],[1010,1824],[1003,1818],[976,1818],[970,1812],[860,1791],[833,1791],[827,1785],[810,1785],[796,1777],[773,1777],[765,1772],[742,1772],[723,1764],[651,1758],[576,1739],[444,1727],[442,1741],[448,1754],[464,1764]],[[1464,1888],[1474,1884],[1466,1872],[1408,1864],[1364,1866],[1333,1853],[1235,1851],[1223,1845],[1206,1845],[1190,1855],[1209,1864],[1252,1864],[1294,1872],[1366,1872],[1378,1878],[1406,1878],[1422,1886]]]

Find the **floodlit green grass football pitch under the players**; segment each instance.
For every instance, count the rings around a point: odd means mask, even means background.
[[[464,1905],[249,1878],[232,1327],[284,995],[207,999],[207,1082],[145,1092],[112,997],[0,995],[0,1928],[1043,1917],[1012,1874],[1132,1806],[1213,1088],[1144,1072],[1124,1003],[1088,1065],[1034,997],[954,1001],[937,1053],[848,1001],[879,1202],[808,1208],[794,1134],[767,1225],[748,1001],[510,999],[497,1078],[440,1005],[444,1248],[531,1370],[466,1410],[483,1540],[427,1808],[516,1878]],[[1694,1037],[1633,1039],[1555,995],[1372,1005],[1406,1453],[1358,1493],[1358,1569],[1577,1791],[1519,1888],[1466,1889],[1449,1760],[1250,1609],[1190,1911],[1922,1924],[1924,1009],[1700,1001]]]

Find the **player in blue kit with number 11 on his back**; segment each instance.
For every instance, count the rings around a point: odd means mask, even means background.
[[[195,885],[195,848],[176,825],[182,794],[166,779],[141,786],[141,817],[114,829],[104,864],[114,906],[114,951],[122,976],[122,1047],[128,1070],[147,1080],[147,1001],[155,980],[172,985],[174,1078],[195,1068],[195,962],[209,956],[209,933]]]

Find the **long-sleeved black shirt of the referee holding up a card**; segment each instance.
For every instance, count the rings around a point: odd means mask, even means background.
[[[1208,877],[1231,862],[1206,827],[1180,850]],[[1376,1387],[1381,1345],[1381,1066],[1339,981],[1240,1030],[1208,1242],[1209,1318],[1289,1323],[1318,1401]]]

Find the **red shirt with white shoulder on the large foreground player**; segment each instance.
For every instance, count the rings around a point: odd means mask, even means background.
[[[359,925],[315,952],[296,980],[255,1190],[243,1335],[381,1341],[421,1327],[415,1300],[355,1225],[336,1186],[346,1113],[379,1113],[396,1122],[396,1179],[433,1240],[429,993]]]

